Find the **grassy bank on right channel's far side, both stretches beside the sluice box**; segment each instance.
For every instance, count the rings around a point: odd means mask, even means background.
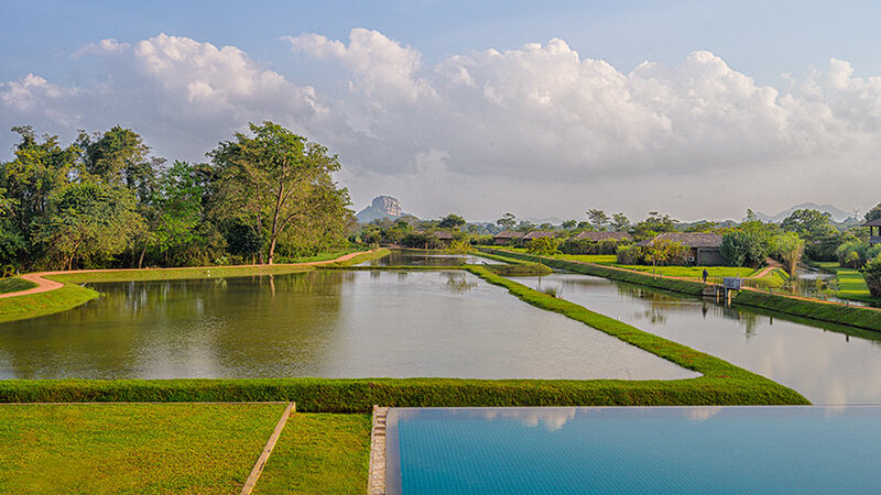
[[[508,253],[521,260],[536,261],[536,256],[521,253]],[[674,293],[699,296],[704,285],[699,282],[679,280],[674,278],[655,277],[650,274],[622,272],[611,267],[572,263],[562,260],[542,258],[548,266],[568,270],[610,278],[613,280],[629,282],[653,288],[672,290]],[[733,299],[735,305],[751,306],[765,310],[776,311],[812,320],[830,323],[848,324],[867,330],[881,331],[881,311],[860,308],[856,306],[841,306],[820,300],[800,299],[779,294],[768,294],[758,290],[741,290]]]

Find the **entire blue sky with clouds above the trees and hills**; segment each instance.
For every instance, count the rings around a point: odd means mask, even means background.
[[[684,221],[881,201],[877,2],[0,0],[0,161],[30,124],[203,162],[271,120],[360,210]]]

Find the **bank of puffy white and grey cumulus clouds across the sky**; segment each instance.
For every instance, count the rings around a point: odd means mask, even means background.
[[[856,77],[844,61],[782,92],[703,51],[626,73],[558,38],[432,65],[366,29],[346,41],[283,41],[341,68],[345,89],[295,85],[235,46],[104,40],[72,54],[100,64],[91,86],[39,70],[0,84],[0,123],[58,133],[121,123],[157,152],[193,160],[249,121],[274,120],[340,153],[359,202],[392,194],[429,216],[602,207],[730,217],[806,199],[877,202],[860,177],[874,174],[881,151],[881,78]],[[835,190],[845,184],[848,193]]]

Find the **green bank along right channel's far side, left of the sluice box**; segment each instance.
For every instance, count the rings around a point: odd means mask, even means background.
[[[510,251],[499,251],[481,249],[492,254],[503,257],[511,257],[515,260],[541,262],[552,268],[566,270],[585,275],[594,275],[598,277],[609,278],[612,280],[621,280],[630,284],[643,285],[646,287],[654,287],[664,290],[672,290],[674,293],[688,294],[689,296],[699,296],[704,290],[704,284],[690,280],[677,280],[673,278],[655,277],[651,274],[643,274],[630,272],[624,270],[611,268],[608,266],[596,265],[592,263],[579,263],[566,260],[555,260],[552,257],[534,256],[525,253],[513,253]]]

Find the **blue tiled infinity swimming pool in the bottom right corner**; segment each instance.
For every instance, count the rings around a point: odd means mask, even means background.
[[[881,407],[396,408],[387,493],[877,493]]]

